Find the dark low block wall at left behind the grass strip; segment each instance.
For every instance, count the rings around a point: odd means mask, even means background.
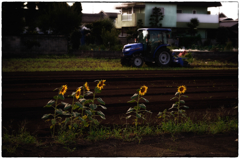
[[[35,44],[32,45],[31,44]],[[3,36],[3,54],[65,54],[67,38],[63,35],[22,35]]]

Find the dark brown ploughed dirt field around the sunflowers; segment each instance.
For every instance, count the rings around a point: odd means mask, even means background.
[[[159,111],[170,108],[170,99],[177,87],[187,87],[185,98],[188,115],[194,120],[207,112],[217,115],[224,107],[230,111],[238,105],[238,70],[204,71],[90,71],[90,72],[17,72],[2,73],[2,124],[17,123],[26,119],[28,131],[38,136],[49,136],[49,127],[41,119],[52,109],[43,108],[57,95],[55,88],[68,85],[66,95],[70,95],[85,82],[90,89],[96,86],[94,80],[106,79],[101,94],[107,110],[102,110],[106,120],[102,124],[124,124],[125,113],[130,106],[127,101],[142,85],[148,86],[145,98],[147,110],[156,117]],[[66,96],[65,95],[65,96]],[[65,102],[71,103],[71,98]],[[234,115],[234,113],[233,113]],[[235,111],[235,115],[237,112]],[[151,120],[153,120],[152,118]],[[144,137],[141,144],[106,140],[104,142],[80,142],[73,153],[61,151],[60,147],[44,149],[24,147],[17,156],[238,156],[238,132],[231,134],[204,135],[183,134],[172,142],[169,137]],[[93,149],[96,148],[96,151]],[[82,150],[82,151],[80,151]],[[61,152],[60,155],[57,152]],[[9,154],[3,152],[3,156]],[[11,156],[11,155],[10,155]]]

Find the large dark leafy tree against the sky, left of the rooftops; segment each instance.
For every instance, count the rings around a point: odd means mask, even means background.
[[[44,4],[40,4],[44,3]],[[42,13],[38,26],[45,33],[52,30],[53,34],[69,35],[81,25],[81,3],[68,6],[66,2],[39,2]],[[39,10],[41,10],[41,7]]]

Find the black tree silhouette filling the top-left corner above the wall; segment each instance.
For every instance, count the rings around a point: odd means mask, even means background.
[[[19,35],[23,33],[24,2],[2,3],[2,35]]]

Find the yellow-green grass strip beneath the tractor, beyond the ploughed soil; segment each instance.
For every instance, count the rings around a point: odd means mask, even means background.
[[[74,56],[43,56],[40,58],[7,58],[2,59],[3,72],[44,72],[44,71],[123,71],[123,70],[219,70],[237,69],[237,64],[224,62],[204,62],[193,60],[192,65],[201,65],[196,68],[181,67],[123,67],[120,59],[79,58]],[[221,66],[220,68],[211,65]],[[230,65],[233,68],[226,67]]]

